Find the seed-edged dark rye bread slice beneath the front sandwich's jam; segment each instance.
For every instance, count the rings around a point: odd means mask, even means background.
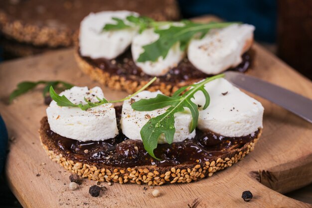
[[[205,177],[211,177],[214,172],[231,167],[244,158],[249,152],[253,151],[262,132],[262,129],[260,129],[257,138],[245,144],[243,147],[226,151],[221,157],[212,158],[207,162],[179,164],[168,167],[149,165],[122,168],[97,163],[84,164],[69,159],[68,153],[56,146],[51,140],[51,137],[47,134],[48,130],[50,130],[47,117],[43,117],[40,123],[39,134],[43,149],[52,161],[57,162],[66,170],[76,173],[83,178],[88,178],[89,180],[120,184],[147,184],[149,186],[190,183]]]

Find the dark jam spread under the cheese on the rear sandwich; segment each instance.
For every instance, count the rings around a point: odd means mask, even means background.
[[[249,50],[242,55],[242,62],[229,70],[245,72],[252,63],[252,57],[254,51]],[[146,81],[153,76],[144,73],[133,61],[131,51],[128,49],[126,52],[118,56],[114,60],[108,60],[105,58],[92,59],[90,57],[82,57],[89,64],[108,72],[111,75],[123,76],[126,79],[132,79],[135,81]],[[198,70],[191,62],[184,58],[179,64],[170,69],[164,76],[158,76],[161,82],[166,83],[179,83],[185,81],[201,80],[206,78],[207,74]]]

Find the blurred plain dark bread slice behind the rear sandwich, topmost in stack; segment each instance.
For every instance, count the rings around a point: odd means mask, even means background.
[[[70,46],[90,12],[131,10],[156,20],[177,20],[175,0],[0,0],[0,31],[36,46]]]

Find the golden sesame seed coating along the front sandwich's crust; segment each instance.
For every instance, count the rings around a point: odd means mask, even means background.
[[[253,142],[245,145],[240,152],[235,152],[235,155],[231,155],[227,158],[217,158],[214,161],[205,162],[204,167],[197,164],[192,169],[175,169],[171,167],[170,171],[163,172],[161,169],[149,170],[148,168],[142,169],[140,167],[127,168],[119,170],[118,168],[105,169],[97,166],[90,166],[73,160],[67,160],[65,156],[61,154],[55,154],[54,151],[48,150],[48,147],[43,145],[46,153],[50,158],[58,162],[67,170],[71,170],[72,173],[77,174],[80,177],[88,178],[89,180],[95,180],[99,182],[106,181],[109,185],[111,182],[119,182],[120,184],[128,183],[129,181],[134,184],[148,184],[149,186],[162,185],[165,183],[190,183],[197,181],[205,177],[211,177],[214,172],[223,170],[227,167],[231,167],[232,164],[237,163],[240,159],[245,157],[254,148],[258,138],[255,138]],[[207,171],[206,171],[207,170]],[[122,174],[122,175],[121,175]],[[128,179],[129,177],[129,179]],[[109,185],[110,186],[110,185]],[[79,188],[79,187],[78,187]]]

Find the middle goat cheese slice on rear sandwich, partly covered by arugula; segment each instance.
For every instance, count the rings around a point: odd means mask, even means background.
[[[137,59],[140,57],[140,54],[144,52],[143,46],[155,42],[158,38],[159,34],[155,33],[153,29],[147,29],[141,34],[137,34],[131,45],[132,57],[136,65],[139,66],[144,73],[152,76],[162,76],[166,74],[171,68],[177,66],[185,55],[184,51],[180,50],[180,43],[177,42],[169,49],[165,58],[159,57],[155,62],[138,62]]]

